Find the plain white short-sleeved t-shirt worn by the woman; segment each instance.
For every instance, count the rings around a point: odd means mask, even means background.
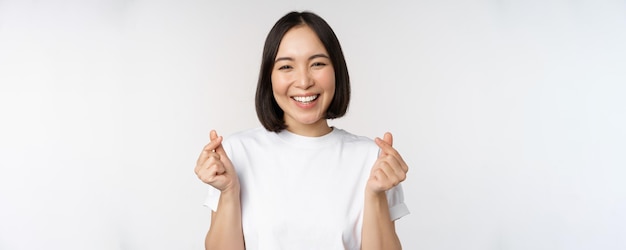
[[[337,128],[321,137],[256,128],[222,145],[239,176],[246,249],[360,249],[373,140]],[[216,211],[219,195],[209,186],[205,205]],[[392,220],[409,213],[400,185],[387,200]]]

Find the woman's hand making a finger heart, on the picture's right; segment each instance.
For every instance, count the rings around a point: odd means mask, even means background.
[[[380,154],[370,172],[366,191],[378,194],[404,181],[409,167],[398,151],[393,148],[391,133],[387,132],[383,139],[376,138],[374,141],[380,147]]]

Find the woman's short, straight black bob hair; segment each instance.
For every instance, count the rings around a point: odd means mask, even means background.
[[[342,117],[350,103],[350,77],[348,66],[341,50],[339,40],[332,28],[318,15],[311,12],[290,12],[280,18],[265,39],[261,71],[257,82],[255,106],[261,124],[268,131],[280,132],[287,128],[284,111],[278,106],[272,91],[272,71],[280,42],[290,29],[306,25],[319,37],[326,48],[335,71],[335,96],[326,110],[326,119]]]

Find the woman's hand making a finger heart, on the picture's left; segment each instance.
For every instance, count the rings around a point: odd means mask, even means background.
[[[211,142],[204,147],[198,162],[196,162],[194,169],[196,175],[204,183],[221,192],[238,192],[240,189],[239,178],[237,178],[235,168],[222,147],[224,138],[217,136],[215,130],[211,130],[210,137]]]

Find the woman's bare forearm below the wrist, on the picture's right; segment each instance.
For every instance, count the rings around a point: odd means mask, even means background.
[[[394,222],[389,214],[385,192],[365,192],[363,228],[361,232],[362,250],[402,249],[396,234]]]

